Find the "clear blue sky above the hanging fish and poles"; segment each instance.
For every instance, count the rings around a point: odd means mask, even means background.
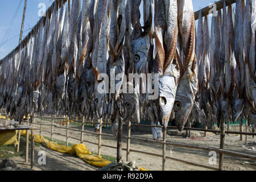
[[[197,11],[205,6],[208,6],[210,3],[214,2],[213,0],[192,0],[194,11]],[[23,28],[23,38],[30,32],[32,28],[40,19],[38,16],[38,7],[39,3],[45,3],[48,8],[51,6],[53,0],[27,0],[27,9],[26,17],[24,20]],[[16,18],[14,19],[11,30],[7,32],[11,20],[15,14],[15,11],[20,7],[16,13]],[[20,26],[22,23],[24,0],[11,0],[11,1],[1,1],[0,6],[0,59],[5,57],[9,52],[11,52],[19,43],[19,33]],[[7,34],[6,34],[7,32]],[[5,36],[6,35],[6,36]],[[6,42],[6,43],[5,43]],[[1,45],[2,43],[5,43]]]

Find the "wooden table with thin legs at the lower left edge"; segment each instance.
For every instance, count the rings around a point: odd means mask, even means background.
[[[18,122],[15,121],[8,121],[11,122],[13,124],[17,124]],[[0,131],[13,131],[13,130],[37,130],[35,127],[32,126],[26,126],[26,125],[22,125],[22,126],[17,126],[17,127],[13,127],[11,129],[9,128],[5,128],[5,127],[0,127]],[[29,134],[28,132],[26,132],[26,152],[25,152],[25,162],[28,162],[28,141],[29,141]],[[18,140],[18,145],[19,145],[19,140]],[[31,169],[34,167],[34,132],[31,132]]]

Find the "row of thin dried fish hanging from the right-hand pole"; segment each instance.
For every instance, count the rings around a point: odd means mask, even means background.
[[[224,1],[224,7],[226,2]],[[196,36],[199,90],[190,122],[237,122],[242,118],[256,126],[255,0],[237,0],[204,22],[199,13]],[[210,31],[210,34],[209,34]],[[249,120],[247,120],[249,119]]]

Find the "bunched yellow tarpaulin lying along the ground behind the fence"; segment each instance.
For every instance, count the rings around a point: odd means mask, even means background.
[[[20,135],[26,135],[26,130],[22,130]],[[31,134],[30,134],[31,135]],[[31,136],[30,136],[31,139]],[[42,143],[47,148],[61,152],[68,153],[71,155],[77,155],[80,159],[85,160],[85,162],[89,164],[93,164],[94,166],[104,167],[111,162],[106,159],[102,159],[102,156],[92,154],[84,144],[74,144],[72,147],[63,146],[57,144],[55,142],[50,142],[48,139],[44,138],[42,135],[34,135],[35,142]],[[146,171],[146,169],[139,167],[141,171]]]

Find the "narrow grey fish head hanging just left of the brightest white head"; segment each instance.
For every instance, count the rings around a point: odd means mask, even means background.
[[[134,88],[131,82],[128,82],[127,86],[133,88],[133,93],[123,93],[126,115],[131,122],[137,122],[139,124],[141,121],[139,110],[139,86],[136,85]]]

